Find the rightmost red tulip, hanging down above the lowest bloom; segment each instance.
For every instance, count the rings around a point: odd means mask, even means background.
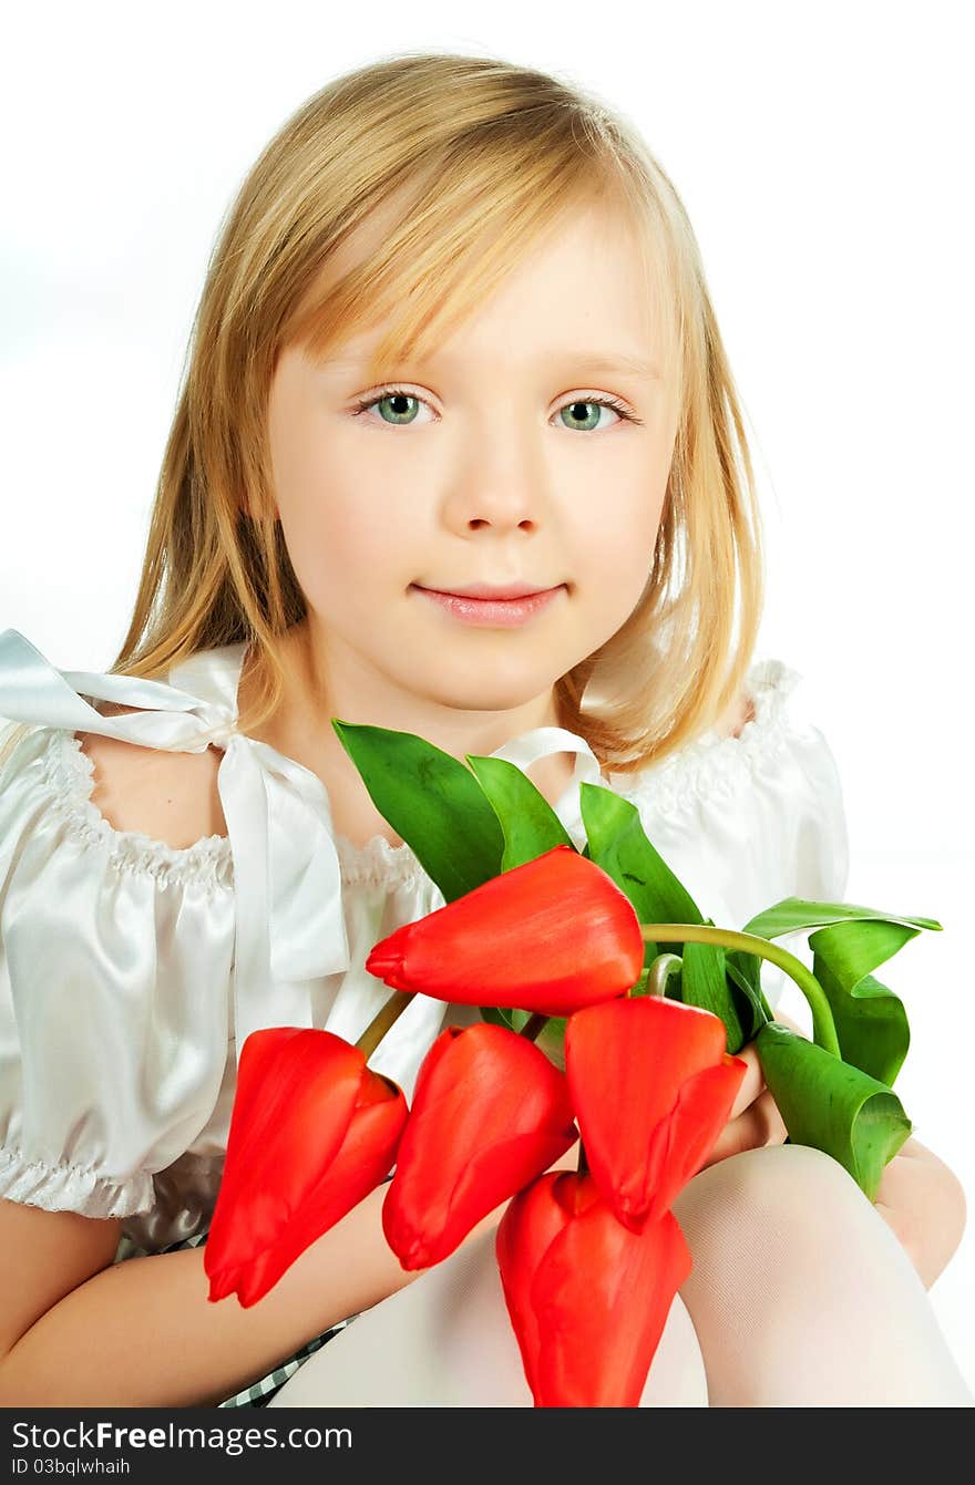
[[[565,1072],[586,1158],[620,1222],[658,1221],[704,1164],[746,1065],[719,1016],[661,995],[577,1011]]]

